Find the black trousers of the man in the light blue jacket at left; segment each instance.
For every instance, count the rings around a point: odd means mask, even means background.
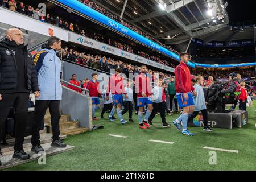
[[[60,100],[36,100],[35,119],[32,123],[31,143],[33,146],[40,144],[40,127],[46,115],[47,107],[51,114],[52,139],[53,141],[60,139]]]

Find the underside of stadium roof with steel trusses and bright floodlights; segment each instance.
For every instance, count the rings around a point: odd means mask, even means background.
[[[93,1],[118,16],[125,4],[125,0]],[[166,5],[166,9],[160,9],[159,3]],[[191,37],[204,38],[229,23],[222,0],[128,0],[123,20],[164,39],[166,44],[179,44]]]

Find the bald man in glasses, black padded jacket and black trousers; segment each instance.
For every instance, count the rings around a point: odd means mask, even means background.
[[[34,62],[27,46],[24,45],[22,31],[7,30],[7,38],[0,42],[0,140],[3,126],[11,110],[15,109],[15,145],[13,158],[22,160],[30,156],[23,150],[26,131],[27,110],[30,91],[39,97],[38,77]]]

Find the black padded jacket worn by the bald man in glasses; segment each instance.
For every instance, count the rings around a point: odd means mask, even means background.
[[[15,55],[10,47],[16,43],[8,39],[0,42],[0,93],[10,93],[18,87],[18,66]],[[27,89],[32,92],[39,91],[38,73],[36,72],[34,61],[30,53],[27,52],[27,46],[23,47],[25,64],[25,78]]]

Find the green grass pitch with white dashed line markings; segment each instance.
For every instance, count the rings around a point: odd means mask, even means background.
[[[174,126],[161,128],[159,116],[154,119],[155,127],[147,130],[139,129],[138,122],[121,125],[117,120],[110,123],[100,119],[94,124],[104,125],[104,129],[64,140],[75,146],[74,150],[49,156],[46,165],[35,161],[7,170],[256,170],[255,109],[256,102],[248,108],[249,123],[242,129],[214,129],[214,133],[205,133],[201,128],[190,127],[194,137],[181,135]],[[127,117],[126,114],[124,118]],[[171,123],[176,117],[177,114],[167,116],[167,121]],[[154,143],[150,139],[175,143]],[[216,151],[217,165],[210,165],[210,150],[203,149],[204,146],[238,150],[239,154]]]

